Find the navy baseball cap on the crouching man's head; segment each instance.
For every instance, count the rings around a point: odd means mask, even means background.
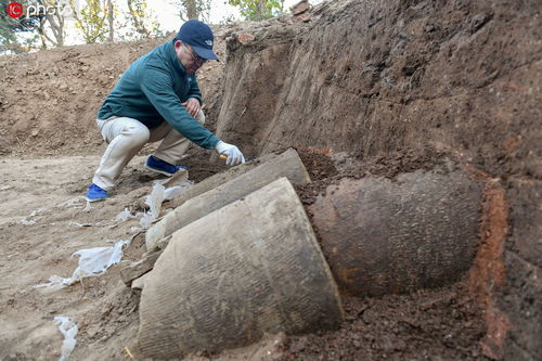
[[[181,40],[194,49],[197,55],[203,59],[218,60],[218,56],[212,52],[215,37],[209,26],[199,21],[188,21],[182,24],[176,40]]]

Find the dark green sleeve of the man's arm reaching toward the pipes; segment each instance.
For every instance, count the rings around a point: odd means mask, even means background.
[[[197,83],[195,87],[197,88]],[[202,147],[215,149],[219,139],[197,123],[181,105],[181,100],[173,91],[169,74],[160,68],[147,66],[145,72],[142,72],[141,90],[156,111],[178,132]],[[197,91],[199,91],[198,88]]]

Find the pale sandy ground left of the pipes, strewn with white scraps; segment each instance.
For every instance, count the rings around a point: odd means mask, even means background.
[[[74,252],[111,246],[134,235],[130,229],[139,227],[137,219],[119,222],[115,217],[126,207],[136,210],[134,201],[156,179],[143,170],[143,160],[139,156],[127,167],[117,191],[121,195],[92,204],[90,209],[85,209],[80,196],[98,156],[0,163],[0,359],[57,359],[62,336],[52,322],[55,315],[69,317],[79,325],[73,359],[105,360],[120,354],[133,332],[130,326],[137,325],[137,304],[119,281],[118,266],[59,291],[34,286],[53,274],[70,276],[77,267],[77,257],[70,258]],[[63,205],[70,199],[73,206]],[[24,225],[23,220],[35,223]]]

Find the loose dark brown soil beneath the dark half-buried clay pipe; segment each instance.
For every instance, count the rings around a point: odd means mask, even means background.
[[[485,360],[486,326],[463,283],[382,298],[344,297],[339,331],[288,337],[282,360]]]

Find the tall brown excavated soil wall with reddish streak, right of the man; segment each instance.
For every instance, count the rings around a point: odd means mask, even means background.
[[[542,354],[541,8],[339,1],[227,39],[217,130],[248,155],[444,153],[496,184],[470,281],[495,358]]]

